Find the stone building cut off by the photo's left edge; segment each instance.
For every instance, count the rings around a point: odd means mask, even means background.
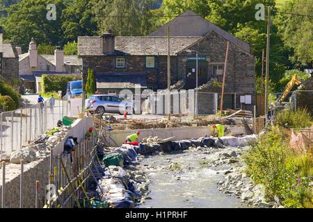
[[[2,28],[0,27],[0,76],[10,82],[19,78],[19,56],[17,47],[12,42],[3,42]]]

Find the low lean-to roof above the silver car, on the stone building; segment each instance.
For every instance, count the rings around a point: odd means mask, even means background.
[[[144,73],[116,73],[106,72],[95,75],[97,89],[134,89],[135,84],[140,84],[141,88],[147,87]]]

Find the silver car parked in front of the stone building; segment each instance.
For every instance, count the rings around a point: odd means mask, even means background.
[[[108,94],[90,95],[89,99],[85,101],[85,108],[91,114],[103,115],[104,112],[118,112],[124,114],[134,113],[134,103],[123,101],[118,96]]]

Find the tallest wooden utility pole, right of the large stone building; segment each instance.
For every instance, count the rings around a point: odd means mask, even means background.
[[[270,35],[271,35],[271,8],[267,9],[267,42],[266,42],[266,71],[265,71],[265,117],[268,117],[268,72],[269,72],[269,52],[270,52]]]

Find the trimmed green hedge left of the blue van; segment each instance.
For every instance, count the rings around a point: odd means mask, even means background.
[[[74,80],[81,80],[81,75],[70,75],[70,74],[60,74],[60,75],[47,75],[43,74],[41,76],[41,89],[42,93],[47,92],[58,92],[62,91],[62,94],[66,94],[67,83]]]

